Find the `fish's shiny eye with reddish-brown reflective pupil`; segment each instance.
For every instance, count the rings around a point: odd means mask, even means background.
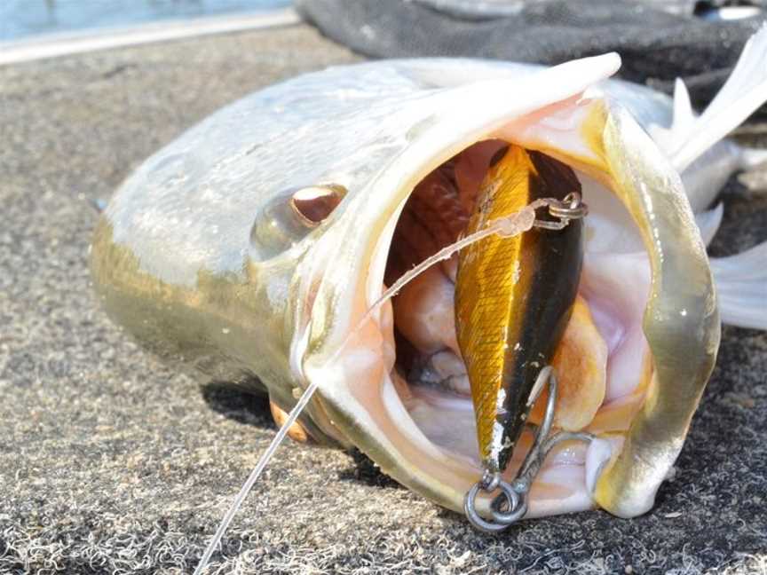
[[[277,195],[250,229],[250,258],[263,262],[295,246],[344,200],[343,185],[309,185]]]

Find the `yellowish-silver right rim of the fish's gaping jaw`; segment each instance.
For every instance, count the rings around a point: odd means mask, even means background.
[[[595,500],[615,515],[637,516],[652,508],[682,450],[716,363],[721,323],[706,248],[679,177],[620,108],[608,114],[604,142],[616,189],[650,256],[644,335],[654,374],[621,454],[599,478]],[[660,173],[652,169],[664,163],[667,169]]]

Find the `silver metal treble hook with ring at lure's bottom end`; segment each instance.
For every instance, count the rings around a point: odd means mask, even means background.
[[[511,483],[504,481],[500,472],[485,470],[482,478],[472,485],[463,499],[463,511],[470,523],[478,530],[488,533],[501,532],[510,524],[516,523],[527,513],[527,499],[530,487],[533,485],[535,476],[541,470],[543,461],[554,447],[563,441],[591,441],[594,436],[587,432],[560,431],[550,437],[551,427],[554,424],[554,409],[557,405],[557,375],[554,368],[545,366],[535,380],[530,398],[527,400],[528,409],[533,406],[535,400],[541,396],[543,388],[549,385],[549,400],[546,403],[546,413],[543,421],[535,430],[533,446],[527,453],[525,461],[517,472],[517,476]],[[477,512],[477,497],[479,492],[492,493],[496,490],[501,492],[490,503],[493,521],[488,521]]]

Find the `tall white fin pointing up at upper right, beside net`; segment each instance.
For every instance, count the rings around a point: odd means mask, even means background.
[[[679,85],[677,83],[677,88]],[[685,114],[682,112],[685,107],[684,92],[682,88],[678,88],[675,92],[675,125],[676,96],[678,96],[680,114]],[[681,130],[675,130],[676,146],[671,153],[671,161],[676,169],[680,173],[684,171],[708,148],[738,127],[765,101],[767,101],[767,24],[751,36],[743,47],[730,77],[703,114],[700,114],[693,122],[683,120],[684,115],[680,116],[680,126],[686,124],[686,130],[684,133]]]

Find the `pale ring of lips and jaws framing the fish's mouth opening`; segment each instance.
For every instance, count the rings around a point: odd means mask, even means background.
[[[296,321],[304,327],[291,346],[297,380],[320,382],[317,401],[330,424],[385,473],[460,511],[481,466],[436,445],[416,424],[408,406],[423,398],[414,398],[393,370],[391,303],[369,313],[368,308],[382,293],[391,235],[420,179],[482,139],[540,150],[605,185],[636,224],[649,261],[643,328],[652,379],[631,400],[630,425],[573,448],[580,449],[575,458],[580,468],[574,466],[580,471],[542,470],[527,516],[596,505],[618,516],[644,513],[676,461],[719,342],[708,258],[678,175],[637,122],[598,92],[578,91],[463,130],[454,125],[452,136],[445,128],[436,122],[415,130],[412,154],[400,154],[384,169],[368,193],[360,194],[365,200],[347,207],[334,233],[321,237],[302,264],[302,293],[312,293],[313,300]],[[456,132],[463,138],[455,139]],[[589,196],[584,200],[589,203]],[[427,401],[437,405],[440,399]],[[465,416],[465,406],[442,409],[446,417]],[[582,488],[551,495],[573,482]],[[486,512],[487,500],[480,500],[478,509]]]

